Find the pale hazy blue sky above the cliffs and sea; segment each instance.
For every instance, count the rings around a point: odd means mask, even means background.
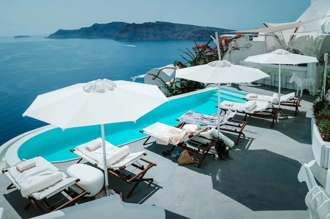
[[[49,35],[93,23],[167,21],[227,29],[295,21],[311,0],[0,0],[0,36]]]

